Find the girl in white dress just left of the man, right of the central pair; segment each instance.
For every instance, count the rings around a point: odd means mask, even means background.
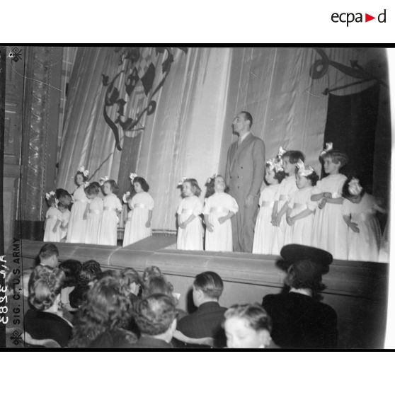
[[[232,251],[231,217],[239,211],[222,176],[214,175],[207,180],[207,193],[203,214],[206,224],[206,251]]]

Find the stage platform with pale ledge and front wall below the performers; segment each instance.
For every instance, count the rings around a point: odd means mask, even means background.
[[[220,304],[258,302],[263,296],[282,291],[285,271],[278,256],[252,253],[213,253],[210,251],[177,251],[176,236],[154,234],[126,247],[58,243],[59,261],[69,258],[81,262],[94,259],[103,270],[132,267],[161,268],[174,291],[181,293],[178,307],[191,311],[193,278],[205,270],[217,272],[224,280]],[[19,268],[33,267],[43,242],[21,240],[8,248],[7,261],[12,268],[13,251],[21,251]],[[324,275],[326,290],[323,302],[338,314],[339,348],[383,348],[387,321],[388,264],[357,261],[333,261]]]

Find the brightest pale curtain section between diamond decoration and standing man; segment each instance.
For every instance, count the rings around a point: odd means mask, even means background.
[[[137,173],[151,185],[154,229],[176,229],[178,181],[205,181],[219,166],[231,65],[230,48],[189,48],[178,53],[161,90],[156,112],[147,117]]]

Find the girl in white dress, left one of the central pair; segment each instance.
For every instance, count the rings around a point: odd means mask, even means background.
[[[195,178],[186,178],[182,185],[183,200],[177,209],[177,249],[202,250],[203,227],[200,214],[203,205],[199,199],[202,190]]]

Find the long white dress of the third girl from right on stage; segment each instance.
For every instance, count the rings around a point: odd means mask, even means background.
[[[290,232],[290,243],[292,244],[311,246],[311,231],[313,230],[314,210],[316,210],[317,206],[316,202],[311,201],[312,190],[313,187],[298,189],[290,200],[290,207],[292,208],[291,217],[294,217],[306,209],[312,211],[309,216],[302,219],[297,219],[292,227],[288,227]]]

